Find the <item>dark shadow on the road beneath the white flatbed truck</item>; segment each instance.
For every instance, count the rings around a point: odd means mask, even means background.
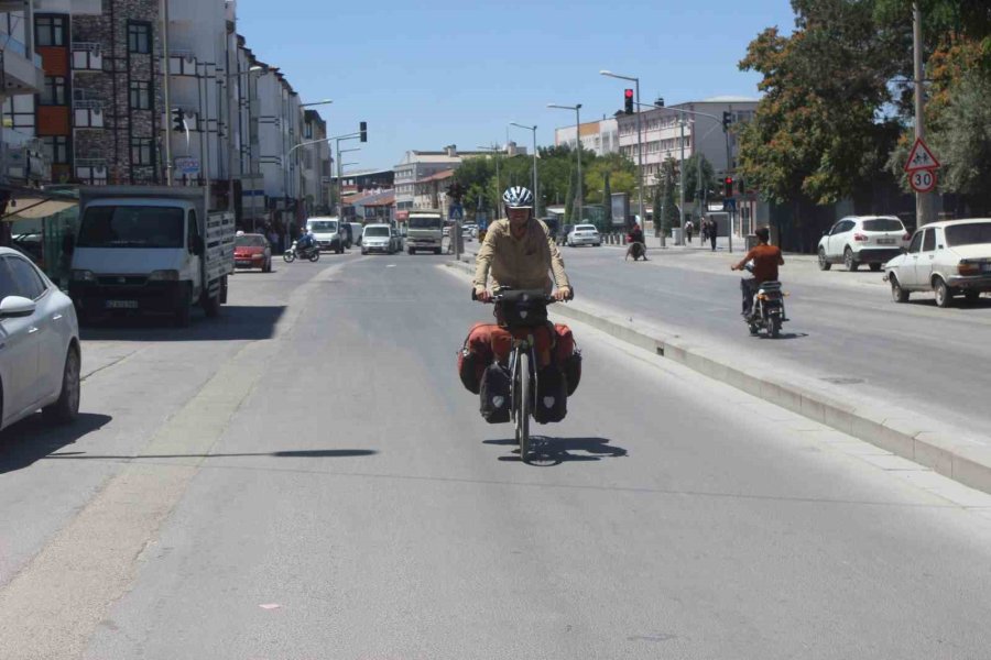
[[[83,341],[239,341],[271,339],[285,306],[225,305],[220,316],[194,314],[188,328],[175,328],[165,316],[105,317],[80,328]]]

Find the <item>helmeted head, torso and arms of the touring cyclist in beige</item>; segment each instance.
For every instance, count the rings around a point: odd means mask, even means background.
[[[502,195],[507,220],[489,226],[475,260],[475,294],[487,302],[489,276],[493,288],[544,289],[557,300],[571,298],[571,284],[564,260],[547,226],[533,218],[533,193],[523,186]],[[554,274],[552,280],[549,273]],[[557,289],[554,289],[557,285]]]

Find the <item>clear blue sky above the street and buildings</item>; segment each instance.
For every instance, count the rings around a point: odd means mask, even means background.
[[[765,28],[788,33],[787,0],[238,0],[238,31],[280,67],[330,134],[369,141],[345,162],[391,168],[409,150],[504,144],[510,122],[537,125],[537,144],[581,103],[581,121],[622,107],[639,76],[642,102],[733,95],[756,98],[738,63]],[[533,134],[511,128],[530,147]],[[349,143],[348,146],[358,146]]]

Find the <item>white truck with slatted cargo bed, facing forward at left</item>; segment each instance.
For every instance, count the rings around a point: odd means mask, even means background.
[[[167,314],[179,327],[227,302],[235,217],[207,211],[204,188],[101,186],[79,193],[69,297],[83,321]]]

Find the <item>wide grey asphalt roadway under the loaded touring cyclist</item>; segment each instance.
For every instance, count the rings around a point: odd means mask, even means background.
[[[442,261],[88,331],[79,424],[0,436],[0,658],[987,654],[991,496],[579,326],[523,464]]]

